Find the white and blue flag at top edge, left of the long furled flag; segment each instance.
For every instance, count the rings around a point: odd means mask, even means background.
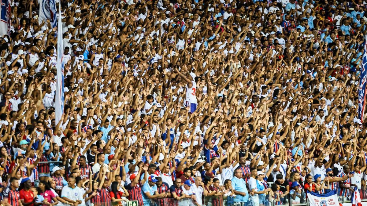
[[[40,0],[38,23],[41,24],[43,21],[46,22],[47,19],[50,19],[52,28],[57,25],[55,0]]]

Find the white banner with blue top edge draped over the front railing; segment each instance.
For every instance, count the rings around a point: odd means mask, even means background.
[[[308,192],[307,198],[309,200],[310,206],[339,205],[336,190],[331,190],[326,194],[317,194],[315,192]]]

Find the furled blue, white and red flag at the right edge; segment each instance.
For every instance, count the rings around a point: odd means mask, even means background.
[[[366,35],[367,39],[367,35]],[[366,106],[366,78],[367,78],[367,41],[364,40],[361,73],[358,90],[358,118],[363,122],[364,107]]]

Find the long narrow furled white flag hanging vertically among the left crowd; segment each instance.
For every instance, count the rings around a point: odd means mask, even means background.
[[[59,18],[57,26],[57,78],[56,78],[56,101],[55,101],[55,124],[57,124],[64,112],[64,62],[62,43],[61,6],[59,4]]]

